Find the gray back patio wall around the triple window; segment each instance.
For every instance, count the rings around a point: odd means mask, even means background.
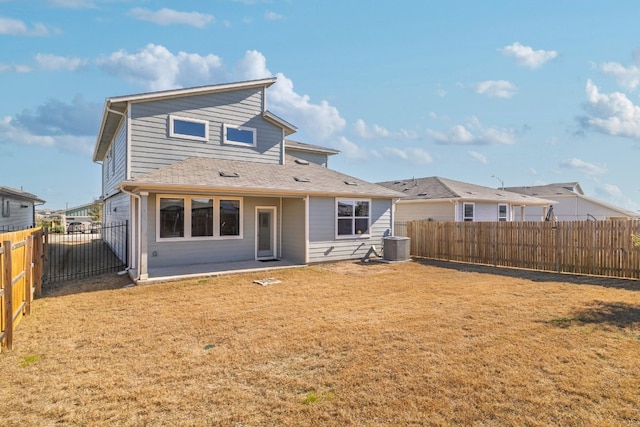
[[[211,195],[218,197],[215,194]],[[148,199],[148,265],[149,268],[247,261],[255,259],[256,206],[274,206],[280,210],[279,198],[243,198],[242,239],[184,240],[162,242],[156,239],[156,196]],[[277,238],[276,238],[277,239]]]

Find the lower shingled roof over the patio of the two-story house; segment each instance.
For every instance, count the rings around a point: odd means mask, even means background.
[[[190,157],[121,184],[126,191],[399,198],[401,193],[287,155],[284,164]]]

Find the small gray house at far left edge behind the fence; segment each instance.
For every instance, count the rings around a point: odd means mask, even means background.
[[[15,188],[0,186],[0,231],[20,230],[36,224],[36,205],[44,200]]]

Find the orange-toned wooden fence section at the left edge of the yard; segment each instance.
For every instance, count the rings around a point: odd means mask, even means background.
[[[42,228],[0,233],[0,347],[11,350],[13,331],[42,290]]]

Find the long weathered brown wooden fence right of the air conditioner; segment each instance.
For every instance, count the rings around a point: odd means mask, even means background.
[[[411,255],[558,273],[634,278],[640,222],[407,222]]]

